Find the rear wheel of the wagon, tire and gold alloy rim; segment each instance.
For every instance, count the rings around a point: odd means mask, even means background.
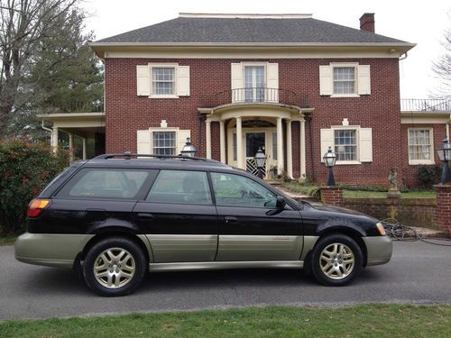
[[[87,287],[100,296],[124,296],[137,288],[144,277],[146,260],[135,242],[122,237],[94,244],[83,264]]]

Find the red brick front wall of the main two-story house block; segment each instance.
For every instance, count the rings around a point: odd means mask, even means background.
[[[306,123],[306,167],[310,178],[316,178],[318,182],[326,180],[326,169],[320,162],[319,130],[340,125],[343,118],[347,118],[350,125],[373,128],[373,162],[337,166],[334,173],[338,183],[386,186],[388,168],[402,167],[398,59],[255,60],[279,63],[279,87],[307,94],[310,106],[315,108],[311,122]],[[190,96],[178,99],[136,96],[136,65],[151,61],[189,65]],[[198,137],[200,96],[230,89],[230,64],[241,61],[243,59],[106,59],[106,151],[136,151],[136,131],[159,126],[165,119],[170,127],[190,129],[198,155],[205,156],[205,124]],[[372,95],[356,98],[319,96],[319,65],[339,61],[371,65]],[[299,138],[297,125],[293,123],[296,143]],[[216,123],[212,123],[213,142],[218,142],[216,128]],[[312,139],[308,128],[312,128]],[[293,173],[299,175],[299,149],[296,147],[293,147]],[[214,144],[215,159],[219,158],[218,151],[218,145]]]

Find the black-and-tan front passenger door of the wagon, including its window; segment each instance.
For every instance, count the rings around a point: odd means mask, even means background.
[[[277,210],[276,195],[252,178],[211,172],[219,221],[216,260],[299,260],[299,210]]]

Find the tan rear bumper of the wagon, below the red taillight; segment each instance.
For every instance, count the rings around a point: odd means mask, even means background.
[[[23,233],[14,244],[15,259],[48,267],[72,268],[93,234]]]

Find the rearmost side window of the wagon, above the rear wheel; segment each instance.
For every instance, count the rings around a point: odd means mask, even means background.
[[[149,172],[139,169],[82,169],[57,196],[133,199],[148,176]]]

